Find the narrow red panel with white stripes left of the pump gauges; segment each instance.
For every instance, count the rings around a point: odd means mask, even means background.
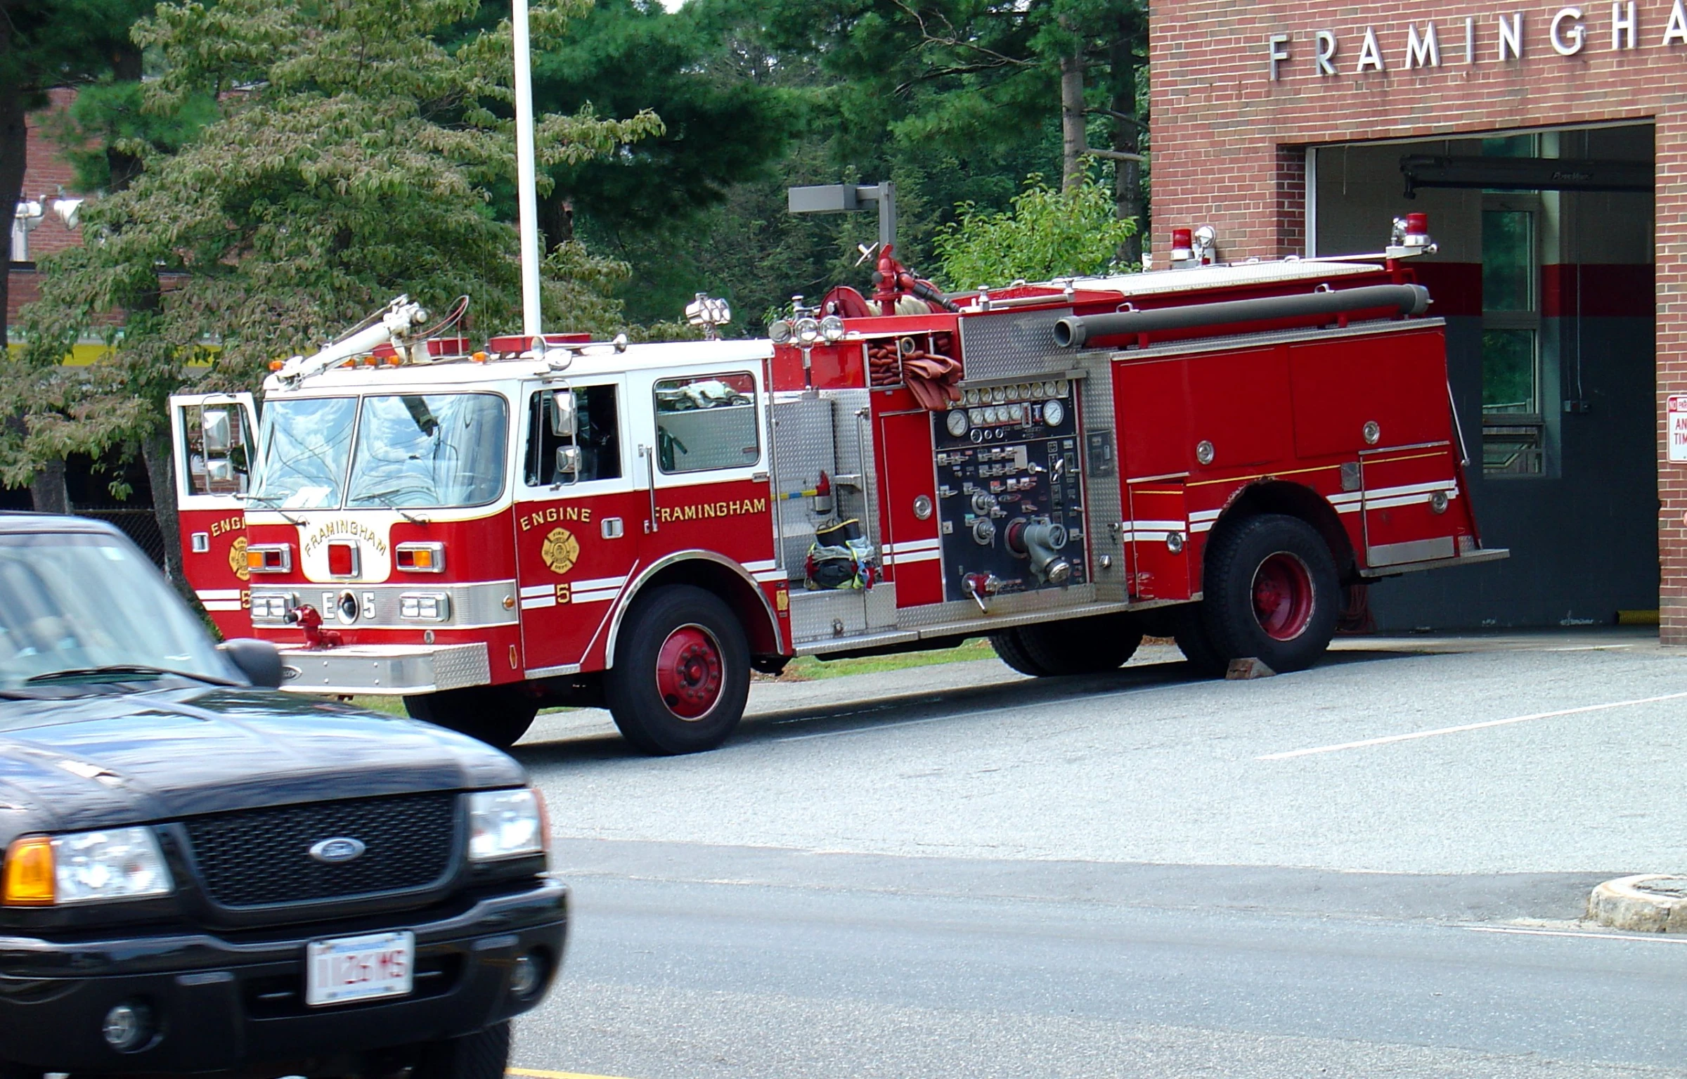
[[[938,469],[931,450],[931,413],[879,416],[884,469],[884,563],[896,582],[897,607],[943,602],[943,540],[938,531]]]

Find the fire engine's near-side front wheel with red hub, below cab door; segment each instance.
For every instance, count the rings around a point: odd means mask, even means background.
[[[744,627],[720,597],[692,585],[641,595],[621,625],[604,696],[616,727],[639,752],[715,749],[737,728],[749,700]]]

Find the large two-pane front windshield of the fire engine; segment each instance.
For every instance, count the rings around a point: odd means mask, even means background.
[[[504,400],[493,393],[270,401],[251,502],[275,509],[482,506],[504,489],[506,432]]]

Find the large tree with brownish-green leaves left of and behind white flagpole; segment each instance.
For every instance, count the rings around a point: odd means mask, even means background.
[[[0,408],[29,413],[0,445],[0,477],[32,460],[145,438],[187,383],[250,388],[278,356],[410,293],[435,310],[469,295],[479,330],[513,317],[515,231],[491,189],[515,174],[508,24],[440,44],[477,0],[167,2],[135,40],[162,57],[142,108],[219,115],[170,152],[155,137],[115,147],[140,162],[125,189],[84,207],[89,243],[44,260],[27,314],[29,352],[0,376]],[[535,5],[547,47],[584,10]],[[574,165],[661,132],[651,113],[589,108],[538,121],[543,162]],[[587,280],[607,270],[552,263]],[[596,276],[594,276],[596,275]],[[553,282],[548,319],[609,312],[582,282]],[[596,305],[594,305],[596,303]],[[121,330],[113,312],[121,312]],[[108,359],[62,368],[89,332]]]

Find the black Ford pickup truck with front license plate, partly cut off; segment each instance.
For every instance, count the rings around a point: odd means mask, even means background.
[[[538,791],[280,674],[115,529],[0,516],[0,1077],[503,1074],[567,932]]]

